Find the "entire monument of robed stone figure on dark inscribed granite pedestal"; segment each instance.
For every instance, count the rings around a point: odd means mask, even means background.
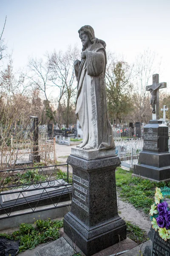
[[[79,148],[72,148],[67,163],[73,168],[71,211],[64,217],[64,232],[91,256],[126,239],[125,221],[118,215],[113,131],[105,98],[105,42],[94,29],[79,29],[82,59],[74,62],[78,81],[76,114],[83,132]],[[88,51],[85,51],[88,49]]]

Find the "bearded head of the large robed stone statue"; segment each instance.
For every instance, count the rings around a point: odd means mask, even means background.
[[[101,43],[104,48],[106,47],[105,41],[95,37],[94,29],[91,26],[89,25],[82,26],[79,29],[78,33],[79,33],[79,38],[82,41],[82,51],[86,49],[86,46],[88,45],[89,42],[91,44],[94,44],[94,42]]]

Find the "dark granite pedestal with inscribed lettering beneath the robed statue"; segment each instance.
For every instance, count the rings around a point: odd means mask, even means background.
[[[118,215],[116,199],[115,169],[121,162],[114,150],[75,148],[67,162],[73,167],[73,189],[64,232],[91,256],[126,239],[126,224]]]

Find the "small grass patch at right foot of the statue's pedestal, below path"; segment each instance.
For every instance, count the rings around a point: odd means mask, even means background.
[[[138,245],[148,240],[147,232],[140,227],[133,225],[130,221],[126,222],[127,237],[135,241]]]

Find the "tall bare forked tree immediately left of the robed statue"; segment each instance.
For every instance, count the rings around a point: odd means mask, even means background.
[[[52,52],[48,55],[48,63],[50,68],[50,80],[54,86],[59,89],[58,96],[58,113],[59,124],[61,123],[61,109],[64,102],[66,102],[66,127],[69,126],[72,107],[74,106],[75,94],[77,93],[77,82],[74,74],[74,61],[79,56],[77,47],[63,53],[59,51]],[[65,101],[66,99],[66,101]]]

